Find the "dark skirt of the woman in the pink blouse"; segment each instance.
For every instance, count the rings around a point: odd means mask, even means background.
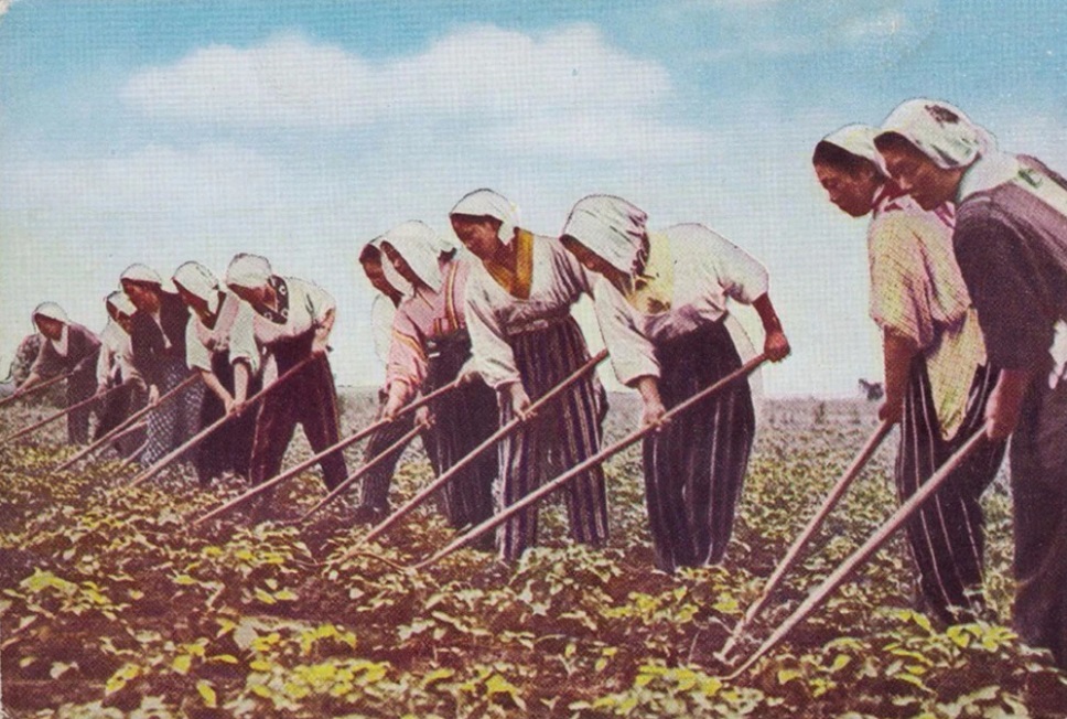
[[[429,367],[423,393],[454,380],[471,357],[466,331],[435,340],[427,347]],[[443,395],[432,403],[433,427],[422,434],[422,443],[440,476],[471,453],[497,429],[496,394],[477,379]],[[486,451],[453,477],[442,490],[443,509],[453,527],[477,525],[493,515],[493,482],[497,460]]]

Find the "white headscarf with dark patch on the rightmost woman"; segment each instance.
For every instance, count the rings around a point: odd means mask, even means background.
[[[995,148],[993,137],[962,110],[941,100],[902,103],[882,124],[879,137],[894,132],[944,170],[967,168]]]

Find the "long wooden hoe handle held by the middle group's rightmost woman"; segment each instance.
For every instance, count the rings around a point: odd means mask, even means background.
[[[683,411],[686,411],[687,409],[689,409],[690,407],[692,407],[697,403],[703,401],[708,397],[710,397],[710,396],[714,395],[715,393],[720,391],[726,385],[729,385],[729,384],[731,384],[731,383],[733,383],[733,382],[735,382],[737,379],[741,379],[742,377],[747,376],[753,371],[755,371],[756,367],[758,367],[761,364],[763,364],[764,362],[766,362],[766,360],[767,360],[767,355],[765,355],[765,354],[761,354],[761,355],[757,355],[757,356],[753,357],[752,360],[750,360],[748,362],[746,362],[743,366],[739,367],[737,369],[734,369],[733,372],[731,372],[729,375],[726,375],[725,377],[723,377],[719,382],[714,383],[713,385],[711,385],[709,387],[705,387],[704,389],[701,389],[700,391],[698,391],[696,395],[693,395],[689,399],[685,400],[683,403],[681,403],[679,405],[676,405],[673,408],[671,408],[669,411],[667,411],[664,415],[664,418],[662,418],[661,421],[668,421],[668,420],[677,417],[678,415],[682,414]],[[505,522],[507,522],[508,519],[510,519],[511,517],[514,517],[516,514],[518,514],[522,509],[526,509],[527,507],[529,507],[529,506],[531,506],[531,505],[540,502],[543,497],[548,496],[549,494],[551,494],[556,490],[560,489],[561,486],[563,486],[564,484],[567,484],[571,480],[573,480],[579,474],[582,474],[583,472],[588,472],[590,469],[592,469],[592,468],[596,466],[597,464],[604,462],[606,459],[608,459],[613,454],[617,454],[618,452],[621,452],[622,450],[626,449],[630,444],[634,444],[638,440],[643,439],[646,434],[649,434],[651,432],[655,432],[657,429],[658,429],[658,426],[656,426],[656,425],[650,425],[648,427],[644,427],[644,428],[638,429],[638,430],[632,432],[630,434],[624,437],[623,439],[618,440],[617,442],[615,442],[611,447],[606,447],[606,448],[602,449],[596,454],[593,454],[592,457],[588,458],[586,460],[584,460],[584,461],[575,464],[574,466],[572,466],[568,471],[563,472],[562,474],[560,474],[559,476],[557,476],[551,482],[548,482],[547,484],[542,484],[540,487],[538,487],[537,490],[530,492],[529,494],[527,494],[526,496],[524,496],[521,500],[519,500],[515,504],[508,505],[499,514],[496,514],[496,515],[489,517],[488,519],[486,519],[485,522],[483,522],[478,526],[476,526],[473,529],[471,529],[470,532],[467,532],[465,535],[460,536],[452,544],[450,544],[444,549],[441,549],[439,552],[436,552],[435,555],[433,555],[429,559],[417,564],[414,566],[414,568],[416,569],[424,569],[424,568],[429,567],[430,565],[432,565],[432,564],[434,564],[436,561],[440,561],[444,557],[448,557],[449,555],[451,555],[453,551],[455,551],[460,547],[464,547],[464,546],[471,544],[472,541],[474,541],[475,539],[477,539],[482,535],[484,535],[484,534],[486,534],[486,533],[495,529],[499,525],[504,524]]]

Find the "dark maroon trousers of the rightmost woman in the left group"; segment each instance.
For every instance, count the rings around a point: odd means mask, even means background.
[[[270,353],[278,363],[279,377],[311,355],[313,339],[313,334],[309,332],[270,346]],[[316,453],[337,443],[340,439],[337,393],[326,355],[304,365],[263,398],[256,418],[249,463],[249,480],[254,485],[274,476],[281,470],[282,459],[297,425],[304,428],[308,442]],[[324,457],[320,466],[327,489],[337,486],[347,476],[345,458],[341,452]]]

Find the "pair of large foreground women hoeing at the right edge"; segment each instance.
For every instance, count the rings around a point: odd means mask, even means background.
[[[872,215],[899,495],[976,431],[989,440],[907,526],[927,609],[955,622],[982,608],[979,500],[1011,436],[1014,625],[1067,668],[1067,383],[1054,342],[1067,321],[1067,181],[929,99],[880,129],[842,128],[812,159],[834,204]]]

